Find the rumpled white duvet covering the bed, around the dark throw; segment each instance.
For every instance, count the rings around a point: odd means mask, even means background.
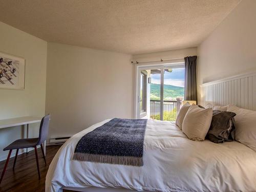
[[[169,121],[147,121],[142,167],[72,160],[80,138],[109,120],[81,131],[63,144],[49,167],[46,192],[91,186],[150,191],[256,191],[256,152],[239,142],[191,141]]]

